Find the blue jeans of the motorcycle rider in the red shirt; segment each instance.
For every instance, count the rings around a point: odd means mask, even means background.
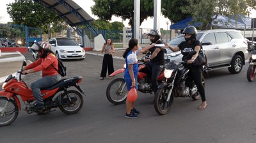
[[[59,74],[53,76],[45,76],[31,84],[31,89],[38,105],[44,105],[41,88],[50,87],[56,84],[60,79],[61,77]]]

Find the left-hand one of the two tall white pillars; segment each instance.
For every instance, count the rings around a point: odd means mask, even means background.
[[[134,0],[133,37],[140,41],[140,0]]]

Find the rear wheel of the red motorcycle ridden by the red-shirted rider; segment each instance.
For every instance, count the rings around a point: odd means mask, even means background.
[[[84,103],[82,94],[74,90],[70,90],[67,91],[67,93],[61,94],[60,100],[60,110],[65,114],[76,114],[79,112],[79,110],[81,110]]]

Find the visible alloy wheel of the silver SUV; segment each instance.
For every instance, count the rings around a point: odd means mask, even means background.
[[[240,73],[243,68],[243,59],[241,56],[236,55],[231,61],[231,67],[228,68],[230,73]]]

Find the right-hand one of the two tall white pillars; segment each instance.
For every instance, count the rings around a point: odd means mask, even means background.
[[[161,0],[154,0],[154,29],[160,31]]]

